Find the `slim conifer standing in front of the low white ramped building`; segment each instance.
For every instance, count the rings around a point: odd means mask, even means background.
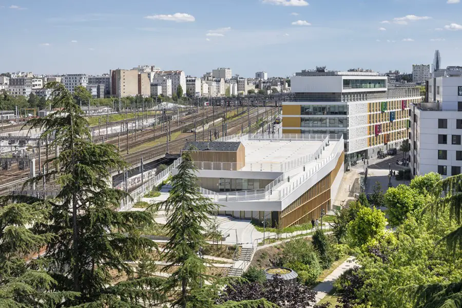
[[[171,293],[172,305],[185,308],[191,293],[207,278],[204,260],[198,256],[205,244],[206,225],[217,206],[199,192],[196,165],[191,152],[184,151],[178,174],[171,178],[170,195],[159,205],[165,208],[169,240],[165,246],[165,261],[178,268],[171,274],[165,289]]]

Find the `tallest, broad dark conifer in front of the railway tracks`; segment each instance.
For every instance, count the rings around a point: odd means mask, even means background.
[[[56,199],[43,202],[48,206],[45,221],[36,222],[34,228],[54,235],[43,260],[57,281],[55,291],[79,293],[61,305],[137,307],[141,301],[159,302],[160,279],[129,278],[113,283],[111,278],[113,271],[134,277],[125,260],[138,260],[155,248],[152,241],[139,237],[139,228],[152,224],[152,216],[117,211],[126,195],[106,181],[111,169],[124,169],[126,163],[113,145],[91,142],[83,111],[63,84],[53,82],[45,87],[53,89],[53,105],[62,109],[28,124],[31,129],[41,128],[42,138],[53,134],[50,146],[59,145],[61,151],[47,161],[55,170],[29,182],[56,178],[60,185]]]

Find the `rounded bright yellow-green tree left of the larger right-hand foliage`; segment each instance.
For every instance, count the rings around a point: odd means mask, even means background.
[[[403,223],[408,214],[417,217],[426,204],[424,195],[402,184],[390,187],[384,197],[388,208],[388,220],[392,226]]]

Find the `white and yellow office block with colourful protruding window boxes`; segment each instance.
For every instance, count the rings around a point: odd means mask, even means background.
[[[409,105],[418,87],[389,87],[375,72],[302,70],[282,103],[283,133],[343,134],[347,161],[371,158],[408,139]]]

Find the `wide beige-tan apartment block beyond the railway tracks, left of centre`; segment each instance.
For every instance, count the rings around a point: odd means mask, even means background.
[[[111,70],[111,95],[121,98],[138,95],[138,70]]]

